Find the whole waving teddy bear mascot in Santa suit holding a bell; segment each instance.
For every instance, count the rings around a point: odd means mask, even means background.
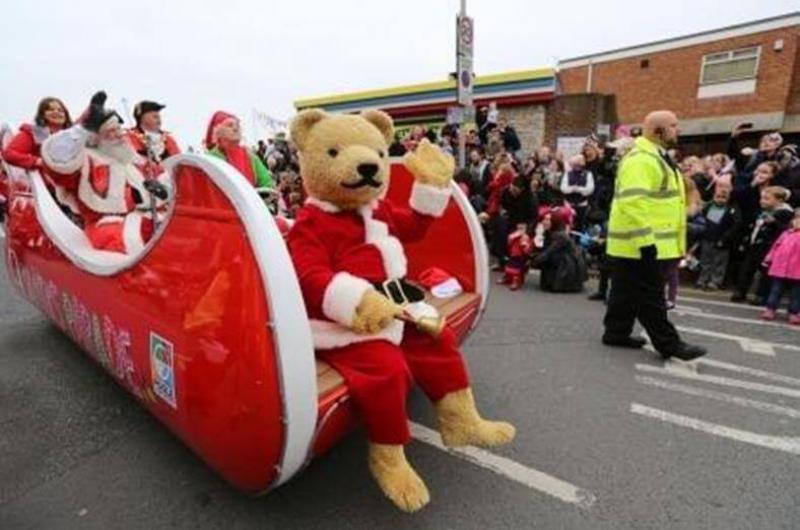
[[[425,236],[450,200],[453,157],[427,140],[406,155],[408,208],[381,200],[389,180],[388,114],[300,112],[291,125],[308,200],[288,236],[319,358],[344,377],[369,439],[368,464],[401,510],[430,496],[406,460],[412,383],[433,402],[448,447],[510,442],[514,426],[483,419],[452,331],[434,338],[398,317],[436,316],[406,281],[403,242]]]

